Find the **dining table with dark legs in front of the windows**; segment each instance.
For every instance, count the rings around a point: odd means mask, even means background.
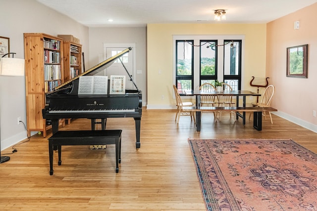
[[[261,94],[249,91],[249,90],[232,90],[232,91],[210,91],[206,92],[203,90],[190,90],[190,91],[184,91],[183,94],[185,96],[196,96],[196,107],[200,107],[201,104],[201,95],[232,95],[236,97],[236,107],[239,107],[239,97],[242,96],[242,107],[246,107],[246,97],[247,96],[261,96]],[[246,124],[246,112],[242,112],[240,114],[239,112],[236,112],[236,120],[239,119],[239,117],[242,119],[243,125]],[[196,112],[196,119],[197,119],[197,112]],[[199,121],[200,122],[200,121]],[[200,128],[200,126],[199,126]]]

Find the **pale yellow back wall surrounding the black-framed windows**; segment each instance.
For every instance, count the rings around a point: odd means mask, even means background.
[[[252,76],[265,77],[266,24],[148,24],[147,28],[148,108],[175,107],[173,35],[244,35],[242,88],[257,91],[249,84]]]

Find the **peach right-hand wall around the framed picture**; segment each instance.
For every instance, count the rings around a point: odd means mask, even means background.
[[[288,119],[317,126],[317,3],[267,24],[266,76],[276,88],[272,106]],[[294,21],[300,28],[294,30]],[[308,79],[286,77],[286,48],[308,44]],[[283,116],[283,115],[282,115]]]

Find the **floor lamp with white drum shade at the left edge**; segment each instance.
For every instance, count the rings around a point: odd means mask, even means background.
[[[0,58],[0,76],[24,76],[24,59],[4,57]],[[15,54],[15,53],[12,53]],[[13,55],[12,55],[13,56]],[[1,108],[0,108],[1,109]],[[0,112],[1,115],[1,112]],[[0,126],[0,164],[10,160],[9,156],[1,156],[1,126]]]

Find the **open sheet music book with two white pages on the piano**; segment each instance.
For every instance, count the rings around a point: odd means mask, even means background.
[[[79,77],[78,94],[107,94],[107,76],[81,76]]]

